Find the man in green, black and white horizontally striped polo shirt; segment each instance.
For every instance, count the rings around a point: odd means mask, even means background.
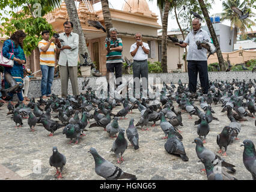
[[[113,92],[114,90],[112,89],[114,89],[114,72],[116,85],[118,86],[122,84],[123,44],[121,38],[117,38],[117,29],[109,29],[109,33],[111,35],[111,41],[106,42],[106,79],[108,81],[108,92],[110,91],[109,83],[113,85],[111,86],[111,92]],[[114,95],[111,95],[111,97],[114,97]]]

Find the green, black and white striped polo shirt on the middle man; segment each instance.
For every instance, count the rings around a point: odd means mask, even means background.
[[[117,46],[117,43],[118,43],[118,46]],[[115,46],[115,44],[116,44],[116,46]],[[105,46],[107,47],[107,44],[105,44]],[[115,41],[113,41],[113,40],[110,41],[110,48],[119,47],[119,46],[123,46],[121,38],[117,38],[117,40],[115,40]],[[111,64],[111,63],[115,63],[115,62],[123,62],[121,52],[112,51],[106,55],[106,63],[107,64]]]

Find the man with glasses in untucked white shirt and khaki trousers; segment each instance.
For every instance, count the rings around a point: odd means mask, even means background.
[[[78,44],[79,35],[72,32],[73,23],[64,23],[64,32],[59,34],[64,42],[56,42],[60,49],[59,73],[61,76],[61,97],[67,97],[69,78],[72,85],[73,95],[79,95],[78,89]],[[57,39],[56,39],[57,40]]]

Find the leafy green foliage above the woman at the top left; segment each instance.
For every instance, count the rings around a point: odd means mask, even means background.
[[[50,25],[43,16],[55,7],[59,7],[61,0],[5,0],[0,2],[0,10],[10,7],[11,11],[4,11],[11,17],[1,17],[0,22],[3,28],[0,28],[0,35],[10,37],[17,30],[23,30],[26,38],[23,41],[25,55],[30,55],[32,50],[37,47],[41,38],[41,31],[47,29],[50,35],[53,34],[52,25]],[[40,7],[38,7],[40,4]],[[17,7],[22,7],[22,11],[15,12]],[[40,11],[38,11],[40,10]]]

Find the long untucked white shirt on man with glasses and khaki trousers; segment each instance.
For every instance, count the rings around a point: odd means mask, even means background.
[[[79,44],[79,35],[75,34],[74,32],[71,32],[69,37],[67,37],[66,33],[63,32],[59,34],[59,38],[64,40],[63,43],[61,43],[62,46],[70,46],[71,49],[64,49],[61,50],[59,53],[59,61],[58,64],[61,66],[66,66],[67,62],[69,64],[69,67],[74,67],[78,65],[78,44]],[[56,46],[58,47],[58,46]],[[58,49],[61,49],[58,47]]]

